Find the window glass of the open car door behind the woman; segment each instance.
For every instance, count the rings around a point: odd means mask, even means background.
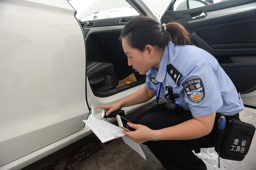
[[[176,0],[174,11],[193,9],[201,6],[215,4],[225,0]]]

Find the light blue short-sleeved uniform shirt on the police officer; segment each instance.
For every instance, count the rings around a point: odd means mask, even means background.
[[[166,66],[172,64],[181,76],[178,85],[166,72]],[[172,71],[171,71],[172,72]],[[177,75],[175,75],[176,77]],[[169,42],[165,46],[159,69],[152,67],[146,73],[146,89],[155,90],[162,82],[161,98],[173,88],[178,94],[176,104],[184,110],[190,110],[193,117],[203,117],[214,113],[235,115],[244,109],[240,94],[233,82],[220,67],[218,61],[207,51],[191,45],[175,45]]]

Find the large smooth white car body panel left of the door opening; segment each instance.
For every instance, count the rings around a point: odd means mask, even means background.
[[[84,127],[85,43],[74,13],[65,0],[0,1],[0,166]]]

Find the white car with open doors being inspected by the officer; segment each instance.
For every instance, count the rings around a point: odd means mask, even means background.
[[[134,16],[158,15],[142,0],[75,2],[0,0],[0,170],[21,169],[89,135],[82,120],[102,119],[94,108],[144,87],[118,37]],[[161,22],[183,24],[255,107],[256,2],[174,7],[170,0]]]

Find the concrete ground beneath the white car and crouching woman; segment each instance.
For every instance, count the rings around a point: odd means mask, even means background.
[[[126,116],[132,120],[136,115],[149,109],[151,102]],[[256,126],[256,109],[245,108],[240,112],[240,119]],[[117,125],[117,122],[114,122]],[[146,148],[149,150],[148,148]],[[220,170],[256,170],[256,135],[250,150],[242,161],[220,158]],[[175,153],[174,153],[175,154]],[[48,157],[45,157],[22,170],[164,170],[158,159],[150,152],[147,160],[125,144],[122,138],[113,139],[102,144],[92,133],[91,135],[67,146]],[[218,154],[214,148],[202,148],[196,154],[207,165],[208,170],[218,169]]]

